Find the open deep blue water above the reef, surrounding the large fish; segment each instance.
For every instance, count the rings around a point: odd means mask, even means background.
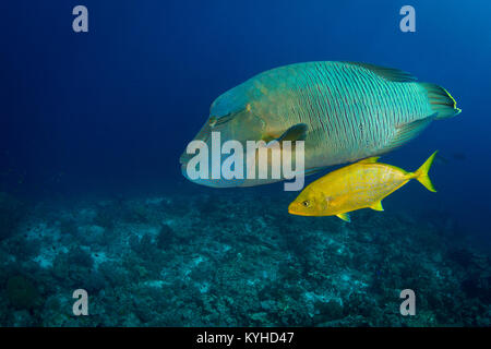
[[[72,31],[76,4],[88,9],[88,33]],[[399,29],[405,4],[416,9],[416,33]],[[256,200],[246,205],[265,204],[259,216],[284,213],[295,195],[282,185],[199,186],[181,176],[180,154],[211,103],[254,74],[362,61],[444,86],[463,110],[383,157],[406,170],[435,149],[445,159],[431,172],[436,194],[410,183],[387,197],[387,215],[451,219],[489,253],[490,11],[486,1],[2,1],[0,192],[56,209],[118,195],[240,203],[246,193]]]

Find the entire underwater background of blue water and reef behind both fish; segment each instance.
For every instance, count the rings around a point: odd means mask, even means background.
[[[72,31],[77,4],[88,33]],[[406,4],[416,33],[399,29]],[[1,326],[491,325],[490,2],[21,0],[0,13]],[[458,117],[381,159],[415,170],[439,149],[436,194],[415,181],[347,224],[288,215],[298,193],[283,183],[182,177],[217,96],[318,60],[452,93]],[[79,288],[89,316],[72,313]],[[399,313],[407,288],[415,316]]]

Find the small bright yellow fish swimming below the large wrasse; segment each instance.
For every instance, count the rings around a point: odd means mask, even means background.
[[[376,163],[379,157],[346,166],[310,183],[288,206],[288,212],[299,216],[337,216],[350,221],[348,213],[351,210],[384,210],[382,200],[414,178],[429,191],[436,192],[428,177],[436,153],[415,172]]]

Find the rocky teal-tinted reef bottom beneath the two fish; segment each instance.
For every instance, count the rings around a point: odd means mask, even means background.
[[[490,257],[451,217],[296,217],[280,194],[39,202],[23,215],[2,196],[0,325],[491,325]],[[72,312],[75,289],[88,316]]]

